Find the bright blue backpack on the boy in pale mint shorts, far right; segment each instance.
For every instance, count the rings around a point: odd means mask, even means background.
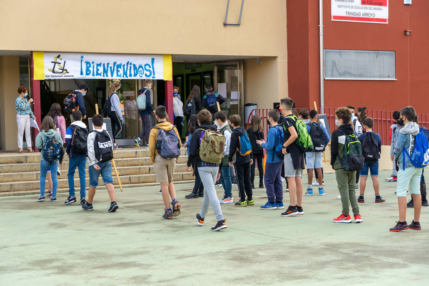
[[[407,154],[411,163],[416,168],[424,168],[429,165],[429,143],[427,137],[429,132],[425,132],[424,129],[426,128],[420,128],[419,133],[416,135],[411,156],[405,151],[405,148],[402,148],[402,156],[404,156],[404,159],[405,154]],[[405,170],[405,160],[402,160],[402,170]]]

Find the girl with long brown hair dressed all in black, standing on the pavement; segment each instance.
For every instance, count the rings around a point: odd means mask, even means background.
[[[252,116],[250,120],[250,127],[247,129],[247,133],[249,134],[253,154],[253,164],[250,166],[250,181],[252,183],[252,189],[255,188],[254,180],[256,163],[258,164],[259,170],[259,187],[262,189],[264,187],[264,184],[262,183],[262,180],[264,179],[264,166],[262,162],[264,149],[259,144],[257,144],[257,141],[264,140],[265,136],[264,129],[262,127],[262,119],[258,114]]]

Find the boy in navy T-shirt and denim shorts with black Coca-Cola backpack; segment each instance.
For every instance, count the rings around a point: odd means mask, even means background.
[[[364,163],[363,169],[360,170],[360,196],[357,198],[357,202],[365,202],[363,195],[366,188],[366,179],[368,179],[368,171],[371,172],[375,202],[386,202],[386,200],[380,196],[380,183],[378,182],[378,159],[380,159],[381,154],[381,137],[380,134],[372,131],[374,120],[371,117],[365,117],[362,120],[362,125],[366,132],[359,135],[359,141],[362,145]]]

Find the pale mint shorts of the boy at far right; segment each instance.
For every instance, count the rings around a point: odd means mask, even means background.
[[[420,178],[422,176],[422,169],[423,168],[411,166],[402,170],[402,168],[399,167],[396,196],[407,196],[408,186],[410,186],[412,194],[420,195]]]

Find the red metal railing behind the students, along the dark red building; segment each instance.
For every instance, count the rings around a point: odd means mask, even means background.
[[[302,108],[296,108],[297,111],[299,111],[300,109]],[[305,109],[310,110],[313,108],[305,108]],[[337,126],[335,125],[335,114],[334,114],[336,109],[337,107],[325,108],[325,114],[326,114],[326,117],[328,117],[328,123],[329,123],[329,128],[331,129],[331,132],[337,129]],[[249,117],[245,118],[245,120],[247,120],[246,126],[248,127],[250,125],[250,120],[252,115],[258,114],[263,120],[263,126],[265,127],[265,132],[267,132],[268,126],[269,126],[267,122],[267,114],[268,114],[268,111],[270,110],[271,109],[254,109],[253,111],[251,111],[251,114],[249,115]],[[317,112],[320,113],[320,108],[317,108]],[[381,143],[383,145],[390,145],[389,129],[393,123],[393,111],[367,109],[366,115],[374,119],[373,131],[380,134]],[[419,119],[419,125],[428,128],[429,114],[417,113],[417,116]]]

